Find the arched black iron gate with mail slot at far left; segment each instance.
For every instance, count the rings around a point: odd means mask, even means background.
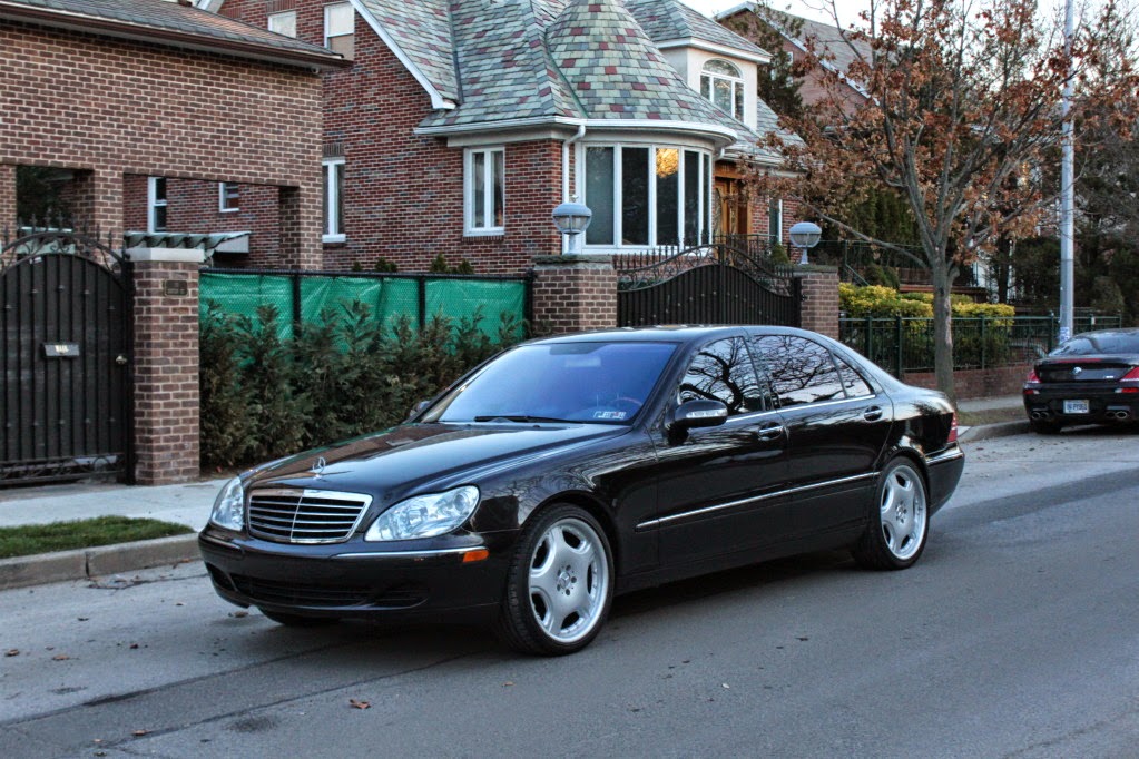
[[[125,269],[73,232],[0,248],[0,486],[130,473]]]

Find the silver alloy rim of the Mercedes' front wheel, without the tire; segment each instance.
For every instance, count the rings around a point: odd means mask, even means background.
[[[601,621],[608,599],[605,546],[574,517],[550,525],[530,559],[530,609],[538,626],[559,643],[574,643]]]

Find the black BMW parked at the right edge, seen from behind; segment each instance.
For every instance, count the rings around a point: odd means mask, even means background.
[[[1024,410],[1038,432],[1130,422],[1139,414],[1139,329],[1083,332],[1036,362]]]

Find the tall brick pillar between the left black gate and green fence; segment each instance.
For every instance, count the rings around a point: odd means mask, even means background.
[[[198,266],[200,250],[133,248],[134,479],[198,477]]]

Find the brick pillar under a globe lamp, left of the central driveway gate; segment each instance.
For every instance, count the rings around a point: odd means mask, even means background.
[[[559,335],[617,325],[617,273],[612,256],[534,258],[534,328]]]

